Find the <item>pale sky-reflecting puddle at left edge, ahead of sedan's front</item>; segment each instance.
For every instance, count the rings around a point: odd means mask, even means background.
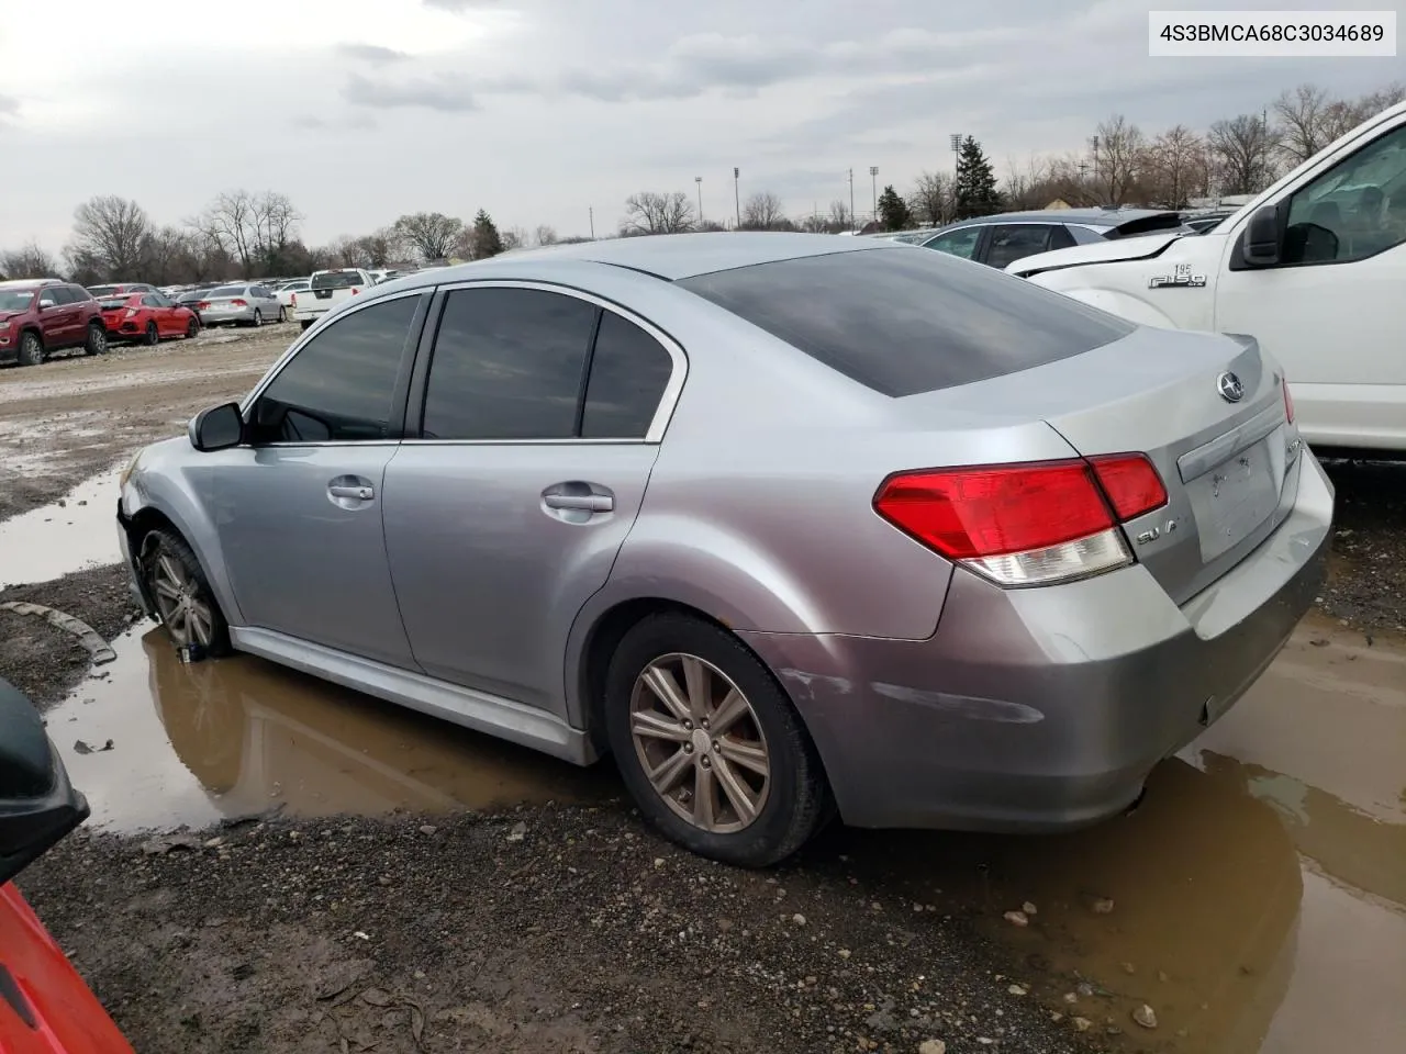
[[[48,582],[70,571],[117,564],[117,478],[93,476],[58,502],[0,523],[0,589]]]

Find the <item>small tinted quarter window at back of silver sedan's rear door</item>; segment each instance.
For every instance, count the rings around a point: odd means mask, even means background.
[[[658,340],[614,312],[605,312],[591,356],[581,436],[644,438],[672,372],[673,360]]]

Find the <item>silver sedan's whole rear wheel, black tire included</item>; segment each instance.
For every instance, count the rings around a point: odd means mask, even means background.
[[[661,675],[676,690],[673,705],[668,689],[650,687]],[[740,708],[734,700],[724,714],[734,693]],[[650,616],[624,635],[606,676],[605,725],[640,811],[699,856],[766,867],[830,815],[820,756],[786,693],[741,641],[702,618]]]

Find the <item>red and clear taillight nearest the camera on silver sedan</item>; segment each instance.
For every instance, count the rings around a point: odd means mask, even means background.
[[[875,510],[1002,586],[1084,578],[1132,562],[1119,521],[1167,500],[1142,454],[900,472]]]

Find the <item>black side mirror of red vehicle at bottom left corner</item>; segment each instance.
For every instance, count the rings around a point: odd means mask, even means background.
[[[38,711],[0,679],[0,885],[87,816]]]

